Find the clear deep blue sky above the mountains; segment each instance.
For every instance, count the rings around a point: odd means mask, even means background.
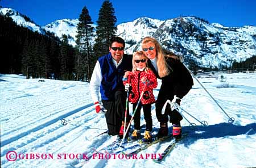
[[[2,7],[11,7],[27,15],[40,26],[59,19],[77,19],[86,6],[94,24],[98,20],[104,0],[1,0]],[[170,19],[183,16],[198,16],[210,23],[224,26],[256,26],[255,0],[200,0],[200,1],[122,1],[110,0],[115,9],[117,24],[131,22],[141,16],[154,19]]]

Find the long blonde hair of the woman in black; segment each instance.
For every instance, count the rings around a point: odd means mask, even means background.
[[[158,75],[160,78],[163,78],[166,75],[170,74],[168,64],[166,62],[166,59],[164,58],[165,54],[163,52],[163,49],[156,39],[152,37],[144,37],[144,39],[142,40],[142,44],[147,44],[148,42],[152,42],[155,44],[156,65],[158,66]]]

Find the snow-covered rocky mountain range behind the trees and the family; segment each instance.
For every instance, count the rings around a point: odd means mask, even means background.
[[[3,14],[9,13],[15,22],[25,27],[38,32],[42,30],[36,24],[22,19],[15,10],[0,11]],[[56,20],[43,28],[60,38],[65,33],[69,44],[75,46],[77,23],[77,19]],[[163,48],[182,54],[185,62],[192,61],[207,68],[225,68],[231,66],[234,60],[239,62],[256,55],[255,26],[225,27],[218,23],[210,24],[196,16],[186,16],[167,20],[142,17],[133,22],[119,24],[117,29],[117,36],[125,39],[126,52],[130,54],[141,49],[143,37],[151,36]]]

